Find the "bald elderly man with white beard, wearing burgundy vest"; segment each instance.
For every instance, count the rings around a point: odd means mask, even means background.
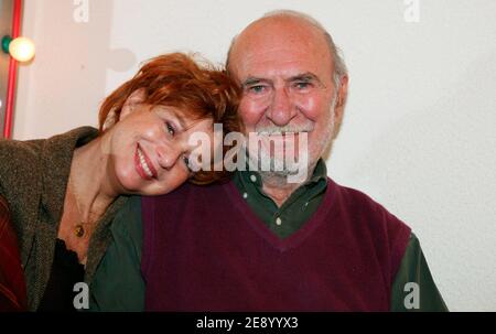
[[[90,287],[91,308],[446,310],[410,228],[326,175],[322,157],[348,86],[331,35],[304,14],[272,12],[234,40],[227,68],[244,90],[246,134],[261,143],[248,143],[251,168],[226,184],[130,201]],[[306,177],[289,182],[289,153],[267,139],[298,147]],[[254,170],[260,160],[270,168]]]

